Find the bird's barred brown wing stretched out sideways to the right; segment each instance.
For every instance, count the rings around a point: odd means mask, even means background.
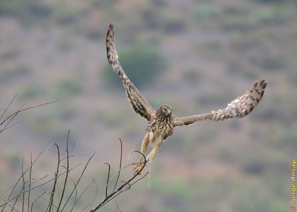
[[[267,82],[265,79],[262,79],[260,83],[256,81],[251,87],[251,90],[248,90],[242,96],[238,96],[235,100],[228,104],[227,108],[201,115],[173,118],[174,126],[189,125],[202,120],[223,121],[228,118],[242,118],[249,114],[260,102],[266,85]]]

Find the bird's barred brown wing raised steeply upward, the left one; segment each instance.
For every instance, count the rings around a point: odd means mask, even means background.
[[[118,54],[116,53],[116,47],[114,44],[113,23],[110,23],[109,29],[107,32],[106,49],[107,49],[108,62],[111,68],[113,68],[113,70],[117,74],[119,74],[121,80],[123,81],[124,87],[126,88],[128,99],[131,102],[131,107],[133,108],[135,113],[138,113],[141,117],[149,121],[151,118],[151,115],[154,114],[155,110],[150,106],[150,104],[146,101],[146,99],[143,98],[143,96],[139,93],[137,88],[128,79],[128,77],[124,73],[119,63]]]

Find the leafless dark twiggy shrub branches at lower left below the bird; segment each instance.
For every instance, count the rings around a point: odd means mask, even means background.
[[[0,120],[3,118],[5,112],[12,104],[12,101],[4,110]],[[46,104],[49,104],[49,103],[46,103]],[[42,105],[45,105],[45,104],[42,104]],[[39,106],[42,106],[42,105],[39,105]],[[34,107],[38,107],[38,106],[34,106]],[[29,107],[26,109],[30,109],[34,107]],[[17,122],[9,126],[12,119],[15,118],[18,113],[20,113],[23,110],[26,110],[22,108],[23,106],[18,111],[11,114],[7,118],[4,118],[4,120],[0,122],[0,126],[4,125],[0,133],[3,130],[19,123]],[[68,131],[67,144],[66,144],[66,155],[64,157],[61,157],[59,146],[56,143],[53,143],[48,148],[45,154],[45,157],[47,157],[49,149],[51,149],[52,147],[56,147],[56,151],[57,151],[57,155],[55,156],[56,162],[57,162],[56,170],[50,170],[54,172],[53,177],[50,177],[50,174],[42,175],[36,169],[37,161],[41,160],[40,156],[42,152],[35,158],[32,157],[32,153],[31,153],[29,163],[24,164],[24,159],[23,159],[23,162],[20,165],[21,172],[17,176],[18,178],[16,183],[0,195],[1,212],[9,208],[11,211],[36,211],[38,207],[40,207],[41,210],[43,208],[46,208],[46,211],[49,211],[49,212],[50,211],[78,211],[77,203],[81,199],[81,197],[84,197],[84,199],[87,199],[89,203],[84,203],[86,205],[83,207],[83,209],[79,209],[79,211],[89,211],[92,205],[96,205],[96,202],[98,202],[97,205],[95,207],[93,206],[94,208],[91,209],[91,211],[97,211],[99,208],[102,208],[106,203],[108,203],[110,200],[115,198],[117,195],[127,191],[128,189],[131,189],[133,184],[143,179],[147,174],[150,174],[150,171],[148,171],[140,178],[136,178],[137,176],[139,176],[143,168],[147,166],[146,165],[147,161],[145,160],[144,166],[137,173],[132,174],[132,177],[130,177],[128,180],[121,181],[122,184],[119,187],[117,187],[121,170],[123,170],[124,168],[127,168],[130,165],[135,164],[135,163],[129,163],[129,159],[128,159],[128,164],[122,167],[122,141],[120,140],[121,157],[120,157],[119,170],[116,171],[116,173],[114,173],[113,176],[110,178],[111,176],[110,164],[109,163],[103,164],[103,166],[108,165],[107,182],[104,188],[105,192],[98,192],[97,182],[95,181],[95,179],[89,176],[84,176],[84,172],[87,166],[89,165],[90,160],[92,158],[96,159],[95,158],[96,152],[94,152],[94,154],[92,155],[81,154],[81,153],[73,154],[72,152],[75,146],[75,140],[73,142],[73,146],[71,150],[69,151],[68,149],[69,131]],[[132,154],[133,152],[138,152],[142,154],[141,152],[136,150],[130,152],[130,154]],[[81,166],[83,163],[75,164],[74,166],[71,166],[72,161],[70,161],[70,158],[78,157],[78,155],[88,156],[88,160],[86,160],[83,170],[81,172],[77,171],[77,168]],[[42,160],[44,160],[45,157]],[[75,175],[78,175],[78,174],[79,174],[79,177],[76,180],[74,180]],[[81,185],[83,178],[91,179],[91,182],[89,182],[88,185],[83,186]],[[108,188],[111,186],[111,180],[113,178],[116,178],[116,182],[112,186],[113,189],[111,191],[108,191]],[[91,189],[93,189],[93,191]],[[93,195],[91,195],[92,192],[94,192]],[[99,198],[99,194],[102,194],[102,193],[105,194],[105,197],[103,198],[103,200],[97,201],[97,199]],[[117,206],[116,211],[118,211],[119,207],[117,204],[116,206]],[[80,204],[80,207],[81,207],[81,204]]]

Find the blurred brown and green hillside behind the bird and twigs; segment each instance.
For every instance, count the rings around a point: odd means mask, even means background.
[[[295,0],[2,0],[0,108],[16,93],[7,114],[26,102],[59,101],[23,111],[15,122],[25,120],[1,133],[0,193],[15,183],[23,157],[28,163],[53,142],[63,152],[68,130],[76,153],[97,151],[85,175],[98,192],[107,178],[102,163],[119,166],[118,138],[123,164],[140,150],[147,122],[106,57],[113,22],[119,61],[154,109],[170,104],[178,117],[203,114],[225,108],[255,80],[268,81],[247,117],[175,128],[149,164],[151,190],[146,178],[116,197],[121,211],[289,211],[296,14]],[[35,168],[53,177],[56,154],[48,154]]]

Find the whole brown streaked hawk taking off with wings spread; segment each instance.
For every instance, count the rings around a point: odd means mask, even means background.
[[[162,144],[162,141],[166,141],[168,136],[172,135],[174,127],[189,125],[202,120],[223,121],[228,118],[242,118],[249,114],[263,97],[265,87],[267,85],[265,79],[262,79],[260,83],[258,83],[258,81],[254,82],[254,85],[250,90],[245,92],[244,95],[238,96],[235,100],[228,104],[227,108],[222,110],[219,109],[218,111],[211,111],[211,113],[182,118],[177,118],[172,115],[172,107],[170,105],[161,105],[156,111],[139,93],[137,88],[128,79],[121,68],[114,44],[114,34],[113,23],[110,23],[106,37],[108,62],[111,68],[119,74],[121,80],[123,81],[128,99],[135,113],[138,113],[149,122],[146,127],[146,136],[144,137],[141,145],[141,152],[144,154],[149,144],[153,147],[150,154],[146,157],[146,160],[150,160],[150,162],[152,162],[155,154]],[[143,166],[143,163],[141,162],[142,157],[143,156],[141,156],[140,161],[136,163],[137,165],[135,168],[139,168],[135,171],[135,173],[137,173]]]

